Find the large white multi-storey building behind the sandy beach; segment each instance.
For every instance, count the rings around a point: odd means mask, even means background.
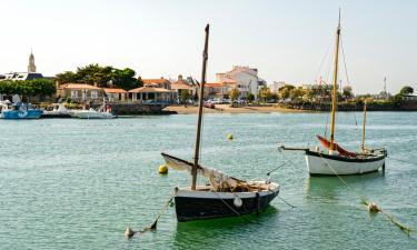
[[[266,86],[266,81],[258,77],[258,69],[247,66],[234,66],[232,70],[226,73],[216,73],[217,82],[225,82],[227,79],[237,82],[240,98],[246,98],[248,93],[252,93],[257,99],[259,89]]]

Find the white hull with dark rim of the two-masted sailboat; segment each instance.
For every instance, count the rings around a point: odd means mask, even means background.
[[[310,150],[306,151],[307,168],[310,176],[344,176],[374,172],[385,166],[385,153],[356,159],[329,156]]]

